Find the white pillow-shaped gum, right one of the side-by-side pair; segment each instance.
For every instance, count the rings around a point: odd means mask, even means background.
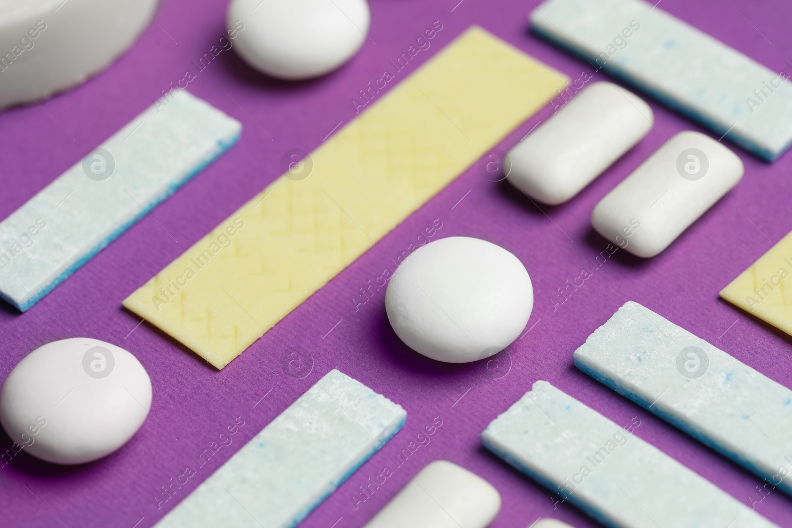
[[[596,204],[592,225],[636,256],[655,256],[742,176],[737,154],[709,136],[683,131]]]

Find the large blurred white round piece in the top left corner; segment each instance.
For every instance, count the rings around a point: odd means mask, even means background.
[[[151,23],[157,0],[0,0],[0,108],[85,82]]]

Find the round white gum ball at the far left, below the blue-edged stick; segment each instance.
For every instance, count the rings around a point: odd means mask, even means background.
[[[150,407],[151,381],[135,356],[85,337],[36,348],[0,389],[0,424],[10,439],[55,464],[111,454]]]

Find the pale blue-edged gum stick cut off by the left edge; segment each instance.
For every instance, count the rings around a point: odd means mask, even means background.
[[[186,90],[156,101],[0,223],[0,298],[28,310],[241,130]]]

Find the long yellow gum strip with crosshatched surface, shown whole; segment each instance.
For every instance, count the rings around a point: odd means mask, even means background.
[[[567,78],[471,27],[124,306],[225,367],[542,108]]]

